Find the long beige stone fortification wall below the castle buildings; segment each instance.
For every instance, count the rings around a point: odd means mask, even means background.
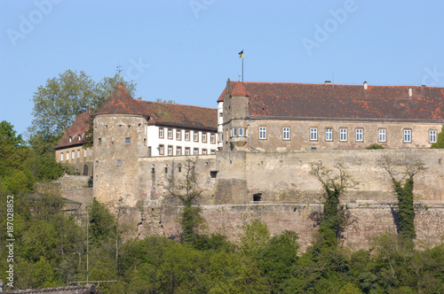
[[[321,161],[333,168],[341,162],[360,182],[341,199],[350,225],[344,244],[362,248],[377,233],[396,231],[396,197],[392,181],[377,161],[383,157],[424,161],[426,170],[415,177],[418,243],[439,244],[444,236],[444,169],[441,150],[219,152],[199,156],[195,171],[203,190],[200,204],[209,232],[235,239],[245,218],[265,221],[272,234],[296,231],[305,248],[316,232],[316,216],[322,211],[321,184],[309,175],[310,163]],[[178,236],[177,200],[169,197],[167,177],[184,179],[186,157],[139,158],[133,174],[136,205],[127,205],[123,218],[133,235]],[[179,167],[180,170],[179,170]],[[402,166],[398,166],[400,169]],[[134,166],[136,169],[136,166]],[[253,202],[253,196],[260,201]]]

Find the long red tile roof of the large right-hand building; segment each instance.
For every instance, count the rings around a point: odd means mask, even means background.
[[[364,89],[361,85],[279,82],[243,82],[243,86],[250,93],[251,118],[444,122],[444,88],[368,86]]]

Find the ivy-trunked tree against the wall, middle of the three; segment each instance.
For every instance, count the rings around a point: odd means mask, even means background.
[[[345,190],[356,187],[359,182],[353,180],[341,163],[334,166],[337,174],[333,174],[321,162],[312,162],[310,166],[310,174],[321,182],[325,197],[323,219],[319,227],[320,245],[336,246],[346,223],[344,213],[339,207],[339,197],[344,195]]]

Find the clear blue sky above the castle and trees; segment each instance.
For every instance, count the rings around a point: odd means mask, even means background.
[[[137,97],[217,107],[226,79],[444,87],[444,1],[1,0],[0,120],[67,69]]]

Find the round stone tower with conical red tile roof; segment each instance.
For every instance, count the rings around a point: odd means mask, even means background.
[[[138,159],[147,156],[147,120],[141,101],[118,84],[94,113],[93,192],[102,203],[134,207],[139,180]]]

